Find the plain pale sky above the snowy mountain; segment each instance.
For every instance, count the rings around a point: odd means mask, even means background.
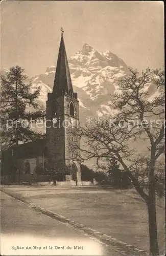
[[[68,58],[87,43],[139,71],[163,68],[163,12],[160,1],[1,2],[1,69],[32,77],[56,65],[61,27]]]

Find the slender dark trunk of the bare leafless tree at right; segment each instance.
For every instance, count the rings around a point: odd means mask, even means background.
[[[148,215],[149,215],[149,238],[150,238],[150,255],[159,255],[157,240],[157,221],[156,221],[156,188],[155,188],[155,145],[151,148],[151,161],[149,168],[149,198],[148,198]]]

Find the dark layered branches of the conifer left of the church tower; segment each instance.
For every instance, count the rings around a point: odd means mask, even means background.
[[[40,88],[32,92],[27,78],[18,66],[1,74],[1,145],[5,148],[44,137],[31,127],[31,120],[36,122],[45,112],[36,101]]]

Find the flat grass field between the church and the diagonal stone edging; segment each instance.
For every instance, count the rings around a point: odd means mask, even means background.
[[[149,251],[147,206],[130,190],[6,186],[6,191],[71,220]],[[164,205],[163,205],[164,207]],[[157,206],[160,255],[164,254],[165,211]]]

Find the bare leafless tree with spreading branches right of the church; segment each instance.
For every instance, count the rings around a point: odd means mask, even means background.
[[[116,160],[130,178],[136,191],[148,206],[150,255],[158,255],[156,223],[156,191],[159,177],[157,162],[164,154],[164,72],[162,70],[130,70],[119,83],[109,118],[97,118],[71,132],[82,146],[72,143],[80,158],[97,158],[98,166]],[[155,93],[151,93],[150,91]],[[153,97],[152,97],[153,94]],[[134,143],[147,147],[141,155]],[[164,175],[163,175],[164,176]]]

